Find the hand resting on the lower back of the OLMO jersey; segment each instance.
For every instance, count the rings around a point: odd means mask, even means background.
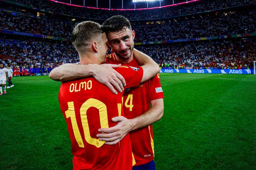
[[[105,144],[114,145],[122,140],[127,133],[132,129],[132,124],[129,119],[123,116],[117,116],[112,118],[113,122],[118,122],[115,126],[110,128],[101,128],[98,131],[103,132],[97,134],[99,140],[106,141]]]

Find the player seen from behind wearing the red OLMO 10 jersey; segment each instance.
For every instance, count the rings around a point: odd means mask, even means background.
[[[103,64],[109,49],[100,24],[86,21],[72,32],[72,44],[79,53],[80,64]],[[158,65],[143,54],[144,66],[120,66],[116,70],[126,79],[126,88],[138,86],[159,72]],[[119,66],[119,65],[117,65]],[[115,145],[106,145],[96,137],[98,129],[116,125],[112,117],[123,117],[122,93],[114,95],[93,77],[64,82],[59,90],[61,111],[67,122],[74,155],[73,169],[132,169],[129,135]]]

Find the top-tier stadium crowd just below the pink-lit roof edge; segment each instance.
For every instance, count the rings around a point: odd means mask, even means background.
[[[57,12],[60,14],[68,14],[72,16],[80,16],[84,18],[107,19],[113,15],[123,15],[129,20],[165,18],[182,14],[191,14],[208,10],[222,9],[236,5],[244,5],[255,3],[253,0],[203,0],[194,3],[178,5],[174,7],[166,7],[162,9],[150,9],[139,11],[117,11],[117,10],[98,10],[82,7],[68,6],[52,1],[37,1],[37,0],[13,0],[17,3],[26,4],[32,7]],[[159,11],[160,10],[160,11]]]

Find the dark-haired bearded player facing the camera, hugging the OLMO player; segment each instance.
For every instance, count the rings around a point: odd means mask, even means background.
[[[133,57],[135,31],[131,29],[129,20],[123,16],[112,16],[103,23],[103,26],[108,42],[114,51],[108,55],[106,63],[140,66]],[[75,64],[63,64],[55,68],[53,74],[52,78],[58,81],[88,76],[84,68]],[[133,169],[155,169],[152,123],[163,116],[163,98],[158,74],[141,83],[139,87],[126,89],[123,96],[123,108],[128,119],[114,117],[112,121],[119,122],[117,125],[109,129],[99,129],[104,133],[98,134],[97,137],[107,141],[106,144],[110,145],[118,143],[130,132],[136,161]]]

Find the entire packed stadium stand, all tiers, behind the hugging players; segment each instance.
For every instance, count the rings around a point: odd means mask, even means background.
[[[253,1],[200,1],[175,7],[140,11],[107,11],[71,7],[51,1],[23,1],[15,2],[65,13],[70,15],[95,18],[102,23],[102,18],[114,14],[122,14],[129,19],[142,19],[132,21],[135,30],[135,42],[158,41],[160,44],[137,45],[135,48],[151,56],[161,67],[168,68],[242,68],[251,66],[255,57],[255,38],[237,36],[232,34],[255,33],[255,4],[247,8],[240,5],[255,3]],[[222,10],[223,8],[236,8]],[[82,19],[72,19],[57,14],[42,13],[28,10],[22,6],[0,3],[0,29],[18,31],[23,33],[40,34],[70,38],[75,23]],[[221,9],[221,10],[218,10]],[[12,11],[7,11],[12,10]],[[167,18],[164,20],[144,19],[163,18],[181,14],[193,14],[200,11],[216,10],[183,17]],[[16,11],[16,12],[13,12]],[[86,11],[86,12],[84,12]],[[159,12],[161,11],[161,12]],[[21,13],[20,13],[21,12]],[[74,63],[79,60],[75,48],[70,42],[47,39],[31,39],[18,35],[1,34],[0,61],[19,68],[54,68],[63,63]],[[191,39],[198,37],[223,36],[228,39],[179,42],[161,44],[165,40]],[[222,37],[222,38],[223,38]],[[201,40],[199,38],[199,40]],[[191,41],[191,40],[188,40]],[[194,40],[193,40],[194,41]]]

